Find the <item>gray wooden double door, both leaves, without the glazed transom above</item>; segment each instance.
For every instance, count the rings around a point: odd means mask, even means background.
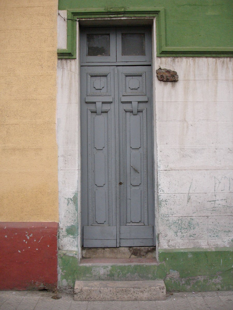
[[[153,246],[150,66],[81,67],[84,247]]]

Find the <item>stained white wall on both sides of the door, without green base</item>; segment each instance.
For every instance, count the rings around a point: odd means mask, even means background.
[[[66,47],[64,33],[66,23],[59,22],[59,48]],[[177,71],[179,81],[162,82],[153,77],[158,246],[230,246],[231,58],[155,56],[154,67],[159,66]],[[80,248],[78,58],[58,60],[57,143],[59,249],[72,251]]]

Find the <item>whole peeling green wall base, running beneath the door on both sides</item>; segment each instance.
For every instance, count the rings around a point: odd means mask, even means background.
[[[75,280],[163,279],[167,291],[232,290],[232,250],[159,250],[159,263],[153,265],[80,265],[76,252],[60,251],[59,286],[73,288]]]

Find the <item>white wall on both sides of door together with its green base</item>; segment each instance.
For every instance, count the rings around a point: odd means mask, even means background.
[[[62,19],[58,47],[66,48]],[[232,235],[231,59],[155,57],[153,65],[179,74],[178,82],[153,78],[159,262],[87,266],[79,264],[79,58],[58,61],[58,283],[62,288],[72,288],[76,279],[159,278],[168,291],[232,289],[232,248],[224,248],[231,244]]]

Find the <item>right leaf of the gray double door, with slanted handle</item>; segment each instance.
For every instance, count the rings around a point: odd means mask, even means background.
[[[151,67],[118,67],[120,246],[153,246]]]

